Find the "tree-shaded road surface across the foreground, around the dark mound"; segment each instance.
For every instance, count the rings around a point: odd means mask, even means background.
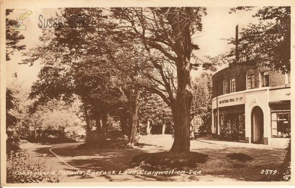
[[[150,135],[143,137],[141,142],[149,145],[142,148],[81,150],[76,148],[81,143],[65,143],[23,148],[45,156],[60,182],[267,181],[273,175],[266,174],[266,170],[280,173],[280,163],[285,155],[282,149],[233,147],[192,140],[191,151],[208,155],[207,161],[177,175],[177,171],[166,172],[166,169],[146,172],[138,167],[131,168],[129,164],[134,156],[169,151],[173,139],[170,135]],[[233,153],[243,153],[253,159],[242,162],[226,157]]]

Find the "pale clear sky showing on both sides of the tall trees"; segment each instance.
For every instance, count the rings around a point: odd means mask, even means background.
[[[236,25],[239,25],[239,31],[241,31],[241,28],[245,28],[249,23],[257,23],[257,18],[252,18],[252,15],[257,9],[229,14],[230,8],[232,7],[207,7],[207,16],[202,18],[203,31],[193,36],[196,37],[193,39],[194,43],[198,44],[200,47],[200,50],[196,51],[195,55],[201,60],[207,61],[204,56],[214,57],[229,51],[233,46],[228,45],[226,40],[221,39],[235,37]],[[11,56],[11,60],[7,62],[7,86],[16,81],[24,87],[29,88],[32,83],[37,80],[38,72],[42,66],[39,61],[32,66],[18,63],[21,63],[21,60],[26,58],[22,56],[22,52],[42,44],[42,42],[38,40],[39,36],[42,35],[42,30],[38,28],[38,24],[40,24],[39,15],[42,15],[43,19],[50,18],[51,16],[56,18],[56,11],[59,11],[53,8],[38,9],[33,6],[31,9],[14,9],[14,12],[12,12],[8,18],[19,18],[22,13],[29,10],[32,11],[32,13],[23,20],[23,24],[27,26],[27,30],[20,31],[20,33],[25,36],[25,39],[21,40],[19,43],[20,45],[27,45],[27,49],[14,53],[14,55]],[[217,68],[220,70],[225,67],[226,65]],[[13,77],[15,72],[17,73],[17,78]],[[202,69],[197,71],[193,70],[191,75],[192,77],[198,77],[201,72],[203,72]]]

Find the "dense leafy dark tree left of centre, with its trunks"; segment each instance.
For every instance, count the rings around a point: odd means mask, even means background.
[[[102,40],[106,35],[103,32],[106,24],[103,23],[101,12],[96,8],[65,8],[62,11],[64,17],[88,14],[91,17],[87,20],[88,27],[79,25],[65,30],[43,30],[40,40],[44,44],[26,53],[29,58],[23,62],[32,65],[41,59],[44,64],[38,75],[39,80],[32,87],[31,96],[40,95],[43,102],[61,95],[63,99],[70,99],[72,94],[80,96],[87,142],[90,141],[90,119],[96,120],[97,135],[105,138],[108,114],[125,100],[122,90],[117,87],[119,84],[115,84],[116,72],[103,57],[108,50],[108,41]],[[120,82],[122,80],[123,77]]]

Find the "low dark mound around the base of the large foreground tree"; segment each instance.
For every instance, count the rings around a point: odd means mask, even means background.
[[[207,155],[197,152],[173,154],[170,152],[145,153],[134,156],[131,166],[138,166],[144,170],[182,170],[186,167],[196,167],[197,163],[204,163]]]

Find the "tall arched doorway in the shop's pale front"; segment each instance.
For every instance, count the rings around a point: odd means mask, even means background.
[[[259,106],[252,110],[252,136],[253,143],[262,144],[264,137],[263,111]]]

